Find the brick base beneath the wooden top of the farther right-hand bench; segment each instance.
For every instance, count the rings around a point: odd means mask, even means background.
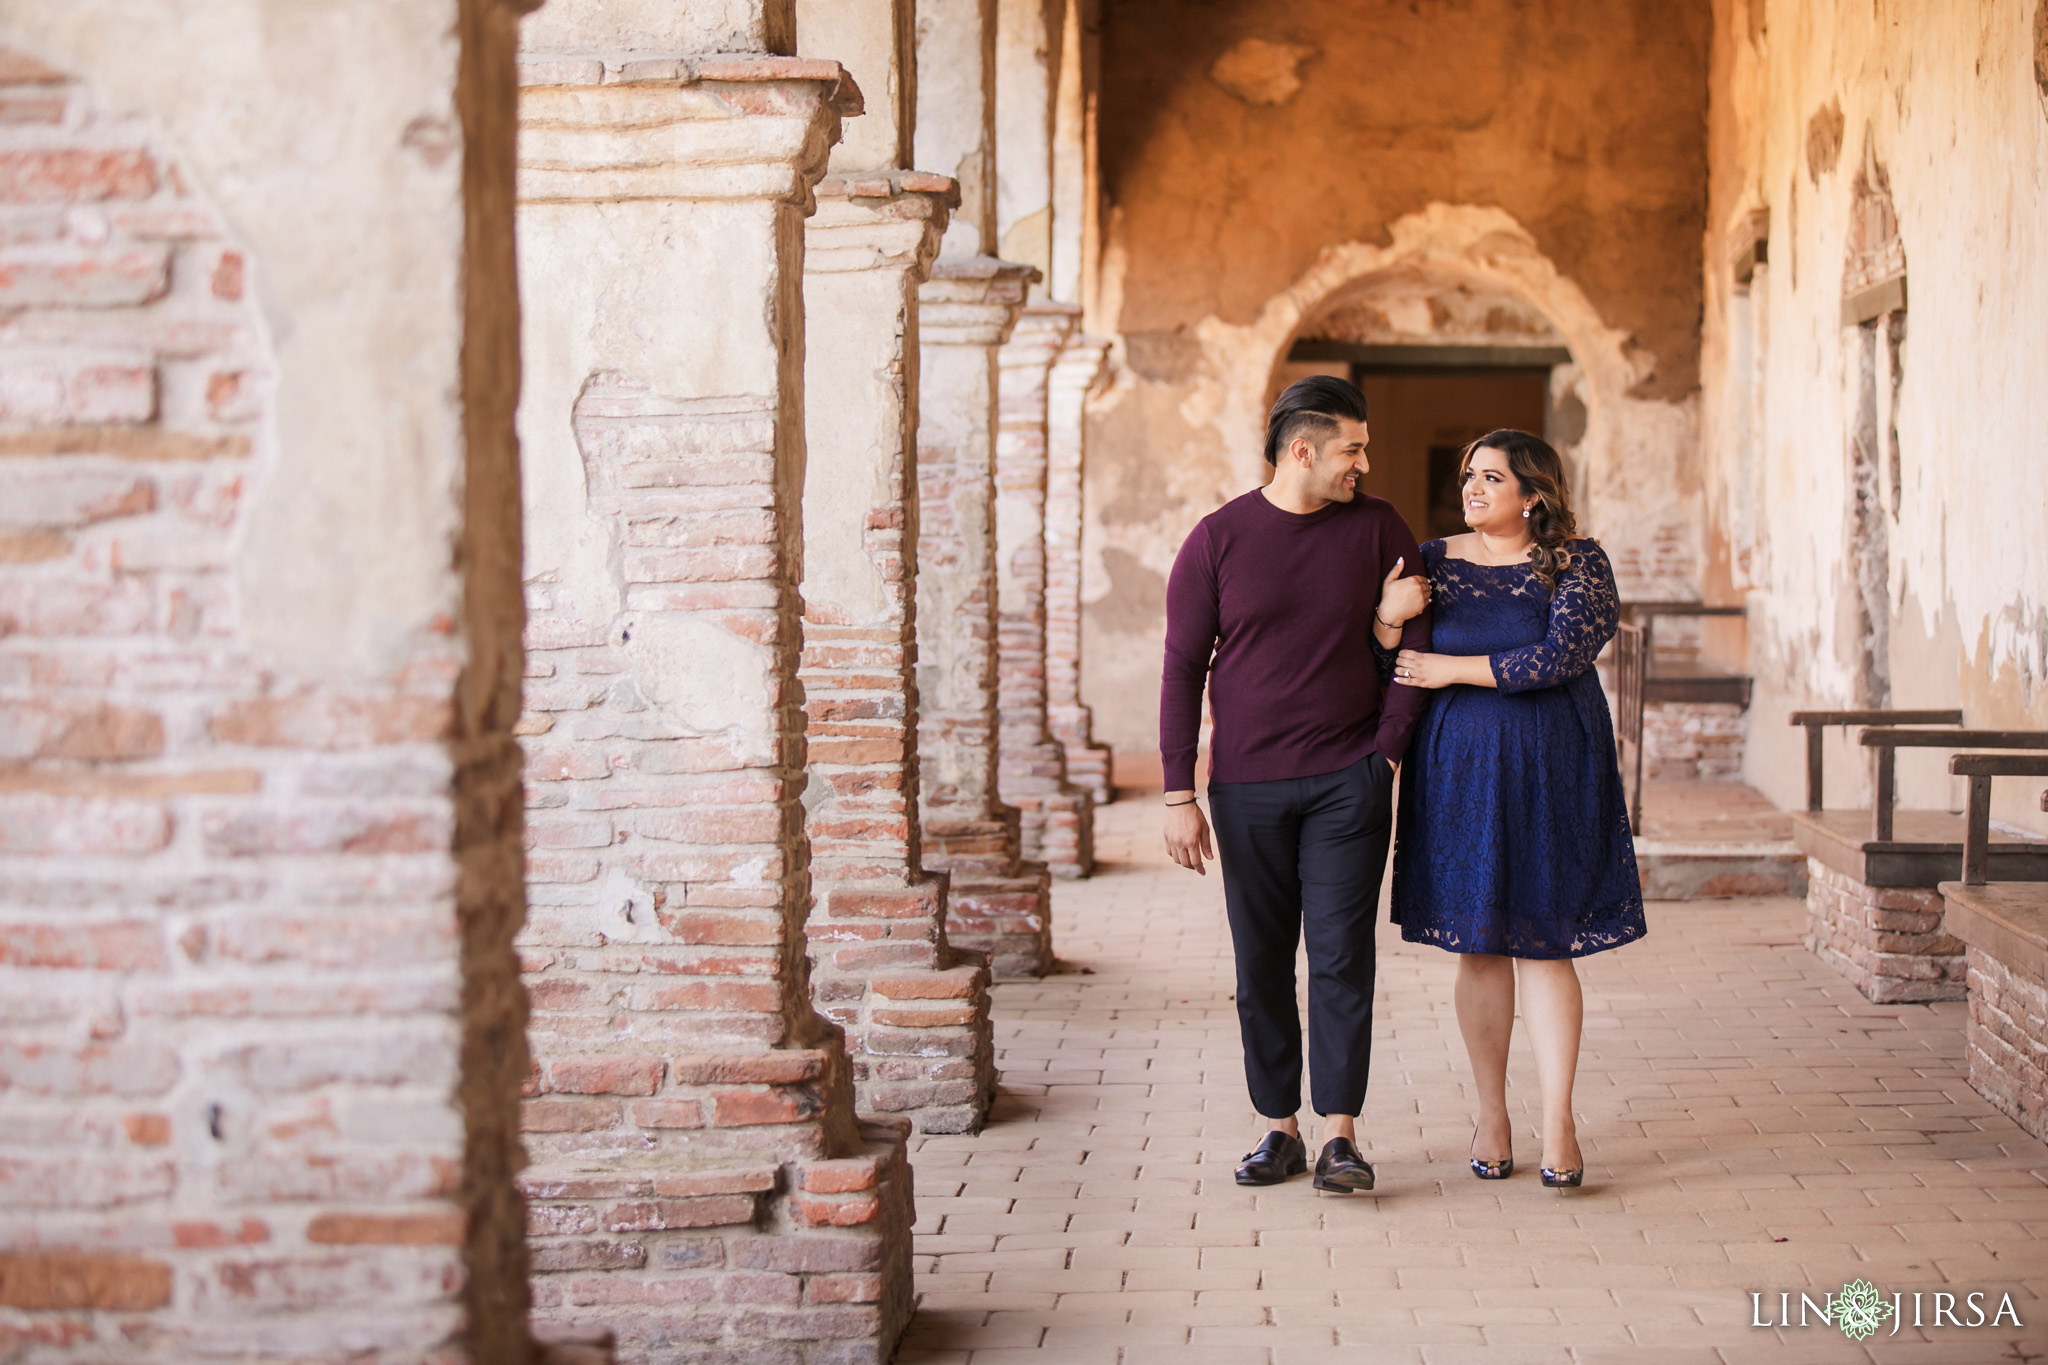
[[[1876,1005],[1964,999],[1964,950],[1933,886],[1866,886],[1808,857],[1806,948]]]

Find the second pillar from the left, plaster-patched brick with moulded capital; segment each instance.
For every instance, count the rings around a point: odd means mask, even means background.
[[[877,1361],[909,1312],[907,1126],[805,958],[803,219],[858,94],[776,8],[524,35],[522,1185],[537,1314],[625,1361]]]

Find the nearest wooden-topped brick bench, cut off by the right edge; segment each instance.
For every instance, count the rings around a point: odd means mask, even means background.
[[[1968,962],[1970,1085],[2048,1140],[2048,880],[1991,880],[2005,870],[1991,857],[1991,780],[2048,778],[2048,757],[1958,753],[1948,769],[1970,780],[1962,880],[1942,882]]]

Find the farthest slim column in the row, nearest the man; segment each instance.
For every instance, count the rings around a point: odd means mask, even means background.
[[[1067,757],[1067,782],[1096,804],[1116,798],[1110,751],[1098,745],[1081,704],[1081,448],[1087,395],[1102,379],[1110,344],[1067,340],[1047,391],[1044,469],[1044,714]]]

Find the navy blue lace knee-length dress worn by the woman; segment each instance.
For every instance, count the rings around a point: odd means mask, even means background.
[[[1628,804],[1593,655],[1614,636],[1614,569],[1571,544],[1556,591],[1528,565],[1421,546],[1432,651],[1491,655],[1493,688],[1442,688],[1401,767],[1393,919],[1411,943],[1583,958],[1642,937]]]

